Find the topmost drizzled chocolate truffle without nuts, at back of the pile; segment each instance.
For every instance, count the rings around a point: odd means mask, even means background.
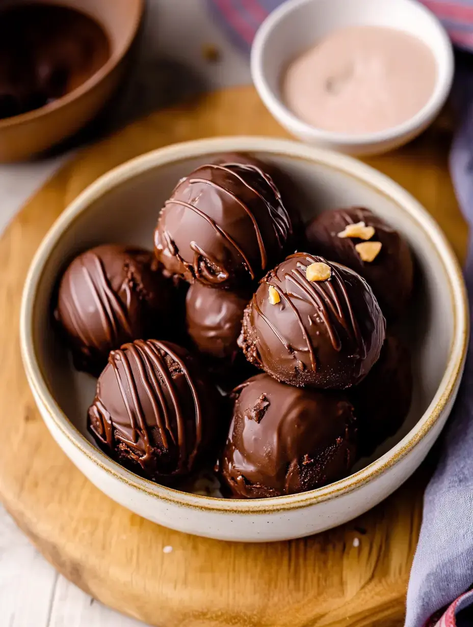
[[[271,177],[250,164],[207,164],[161,210],[155,251],[170,276],[238,290],[290,246],[293,227]]]

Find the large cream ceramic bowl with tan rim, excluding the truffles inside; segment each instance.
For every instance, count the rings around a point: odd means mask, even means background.
[[[144,480],[109,459],[87,433],[95,379],[76,372],[52,326],[52,293],[71,256],[105,242],[151,248],[175,182],[219,152],[250,151],[281,167],[300,194],[305,219],[322,209],[363,205],[408,240],[418,268],[409,324],[415,391],[399,433],[350,477],[301,494],[258,500],[210,498]],[[53,224],[31,264],[21,308],[21,351],[41,415],[58,445],[109,497],[183,532],[224,540],[282,540],[352,519],[396,490],[421,463],[447,420],[464,367],[465,288],[437,223],[383,174],[345,155],[258,137],[203,139],[145,154],[102,176]]]

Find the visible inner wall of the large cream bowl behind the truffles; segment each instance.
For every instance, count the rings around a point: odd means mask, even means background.
[[[399,329],[411,349],[413,402],[398,433],[379,446],[371,458],[360,460],[354,468],[359,470],[398,443],[421,419],[437,392],[455,332],[449,277],[435,245],[417,219],[375,187],[326,164],[288,155],[258,156],[291,177],[306,221],[323,209],[366,206],[403,233],[415,253],[415,297]],[[46,384],[63,413],[93,444],[86,417],[94,398],[95,379],[75,371],[67,348],[53,328],[52,295],[57,278],[73,256],[90,246],[121,242],[151,249],[156,219],[176,182],[206,161],[209,155],[183,159],[122,180],[75,218],[46,261],[33,314],[36,355]]]

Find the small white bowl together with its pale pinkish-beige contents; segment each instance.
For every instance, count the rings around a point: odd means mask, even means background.
[[[413,0],[288,0],[261,24],[251,73],[298,139],[375,154],[435,119],[454,55],[442,24]]]

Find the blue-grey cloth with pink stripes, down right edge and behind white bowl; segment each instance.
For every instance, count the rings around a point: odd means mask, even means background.
[[[442,20],[455,46],[473,52],[473,0],[422,1]],[[207,2],[228,36],[246,51],[259,24],[281,4],[281,0]],[[465,57],[470,55],[464,55],[464,60]],[[453,97],[460,124],[450,154],[450,172],[473,233],[473,56],[463,65],[457,65],[455,75]],[[465,280],[473,313],[473,240],[465,265]],[[473,341],[459,397],[443,433],[440,461],[425,492],[405,627],[473,627],[472,458]]]

